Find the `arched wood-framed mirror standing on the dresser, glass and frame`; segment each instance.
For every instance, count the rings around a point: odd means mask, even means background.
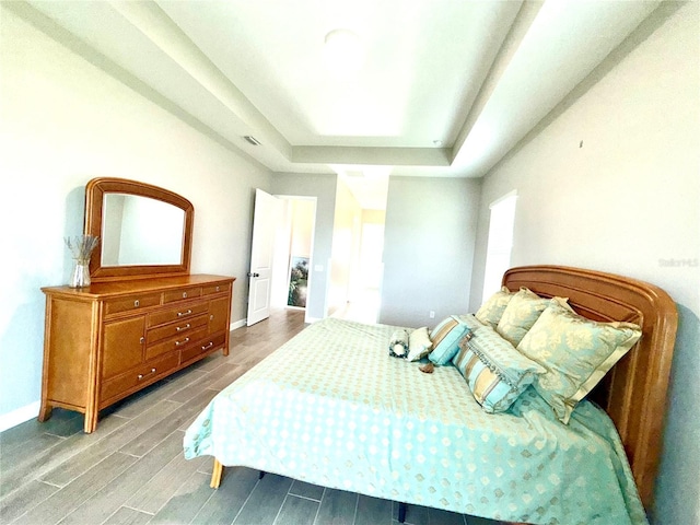
[[[93,282],[189,273],[195,208],[167,189],[122,178],[85,186],[85,234],[100,237]]]

